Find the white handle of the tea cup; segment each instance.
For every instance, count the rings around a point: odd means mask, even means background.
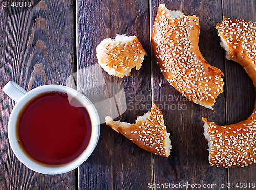
[[[3,92],[15,102],[18,102],[27,93],[26,90],[13,81],[9,81],[4,86]]]

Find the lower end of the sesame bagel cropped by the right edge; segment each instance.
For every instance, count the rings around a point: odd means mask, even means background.
[[[247,166],[256,163],[256,111],[242,122],[219,126],[208,122],[207,133],[211,137],[209,163],[217,167]]]

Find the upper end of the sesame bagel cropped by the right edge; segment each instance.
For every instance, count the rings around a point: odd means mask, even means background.
[[[256,64],[256,22],[223,17],[216,29],[228,46],[227,59],[242,65],[256,86],[256,73],[252,69]]]

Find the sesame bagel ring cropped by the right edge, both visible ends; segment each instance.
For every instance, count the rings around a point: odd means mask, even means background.
[[[256,23],[223,19],[216,28],[226,57],[242,65],[256,86]],[[251,116],[237,124],[219,126],[205,118],[202,120],[210,165],[242,167],[256,163],[256,103]]]

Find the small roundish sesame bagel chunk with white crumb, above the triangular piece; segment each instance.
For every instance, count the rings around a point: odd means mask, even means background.
[[[123,78],[131,75],[131,69],[139,70],[147,55],[137,36],[116,34],[114,39],[106,38],[96,47],[100,66],[108,72]]]

